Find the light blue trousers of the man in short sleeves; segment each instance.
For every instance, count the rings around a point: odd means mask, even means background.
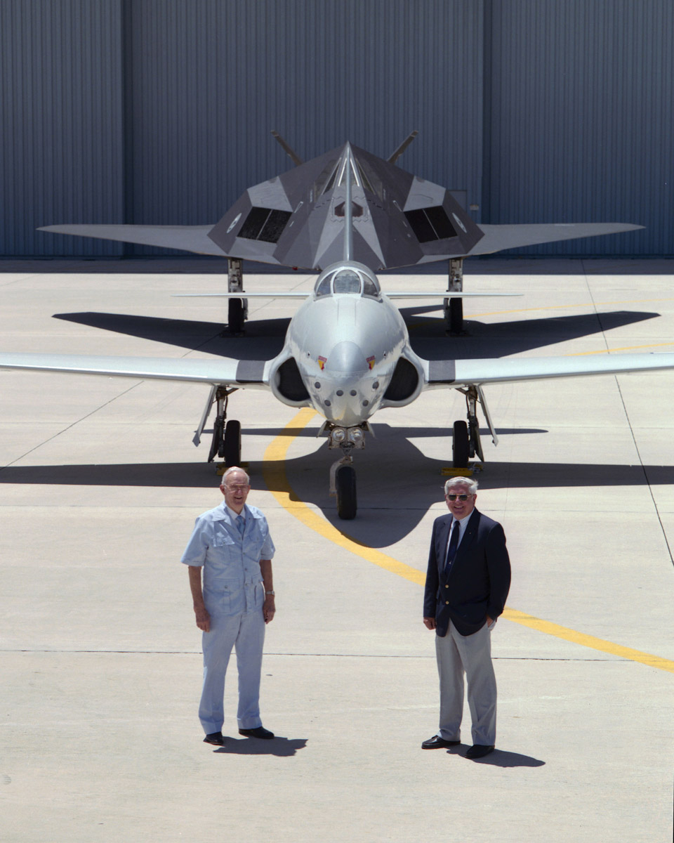
[[[204,685],[199,719],[206,734],[222,731],[227,663],[234,647],[238,668],[238,728],[254,729],[259,718],[259,676],[265,619],[262,609],[248,615],[211,615],[211,630],[201,636],[204,650]]]

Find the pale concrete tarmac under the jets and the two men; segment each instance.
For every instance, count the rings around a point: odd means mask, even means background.
[[[297,303],[250,303],[219,336],[221,261],[0,264],[0,348],[270,357]],[[307,273],[249,276],[253,290]],[[384,290],[443,276],[382,276]],[[674,260],[467,262],[468,334],[404,302],[425,357],[674,351]],[[201,636],[179,557],[221,500],[191,438],[207,389],[0,372],[0,840],[671,841],[674,372],[487,390],[478,507],[504,524],[513,580],[493,634],[497,749],[423,751],[436,732],[421,597],[445,511],[452,421],[434,391],[374,417],[356,454],[359,511],[329,497],[319,417],[241,390],[249,502],[269,519],[277,615],[262,716],[241,738],[236,682],[222,749],[196,717]],[[207,426],[210,429],[210,425]],[[233,668],[233,663],[231,667]]]

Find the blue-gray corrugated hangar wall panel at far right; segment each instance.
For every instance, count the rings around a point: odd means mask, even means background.
[[[629,222],[645,231],[527,247],[671,254],[674,5],[493,3],[489,223]]]

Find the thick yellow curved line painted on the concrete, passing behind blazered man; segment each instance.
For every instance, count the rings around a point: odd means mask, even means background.
[[[283,431],[266,448],[262,463],[262,473],[265,477],[267,488],[275,497],[276,501],[281,504],[281,507],[286,509],[309,529],[313,529],[316,533],[324,536],[324,538],[334,542],[335,545],[339,545],[345,550],[350,550],[351,553],[361,556],[362,559],[372,562],[372,564],[383,568],[385,571],[390,571],[398,577],[404,577],[410,583],[423,586],[425,583],[424,572],[417,571],[416,568],[405,565],[404,562],[399,562],[397,559],[393,559],[392,556],[387,556],[381,550],[375,550],[372,547],[363,545],[356,539],[352,539],[350,536],[341,533],[329,521],[326,521],[325,518],[313,512],[313,509],[308,507],[306,503],[300,501],[295,492],[292,491],[292,486],[286,477],[286,454],[292,440],[297,436],[297,431],[307,427],[308,423],[312,421],[313,416],[316,415],[316,411],[308,408],[299,411],[297,416],[286,424]],[[562,638],[564,641],[580,644],[582,647],[590,647],[592,650],[607,652],[612,656],[625,658],[632,662],[640,662],[649,665],[651,668],[658,668],[659,670],[667,670],[670,673],[674,673],[674,661],[667,658],[651,656],[647,652],[633,650],[630,647],[621,647],[619,644],[613,644],[609,641],[603,641],[602,638],[585,635],[583,632],[577,632],[569,629],[567,626],[559,626],[559,624],[554,624],[549,620],[542,620],[533,615],[527,615],[525,612],[511,609],[508,606],[506,606],[503,617],[506,620],[512,620],[516,624],[528,626],[539,632],[545,632],[547,635]]]

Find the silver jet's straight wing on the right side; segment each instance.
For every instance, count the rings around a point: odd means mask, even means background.
[[[579,378],[598,374],[656,372],[674,368],[674,353],[606,354],[579,357],[496,357],[424,360],[424,389],[484,386],[520,380]]]

